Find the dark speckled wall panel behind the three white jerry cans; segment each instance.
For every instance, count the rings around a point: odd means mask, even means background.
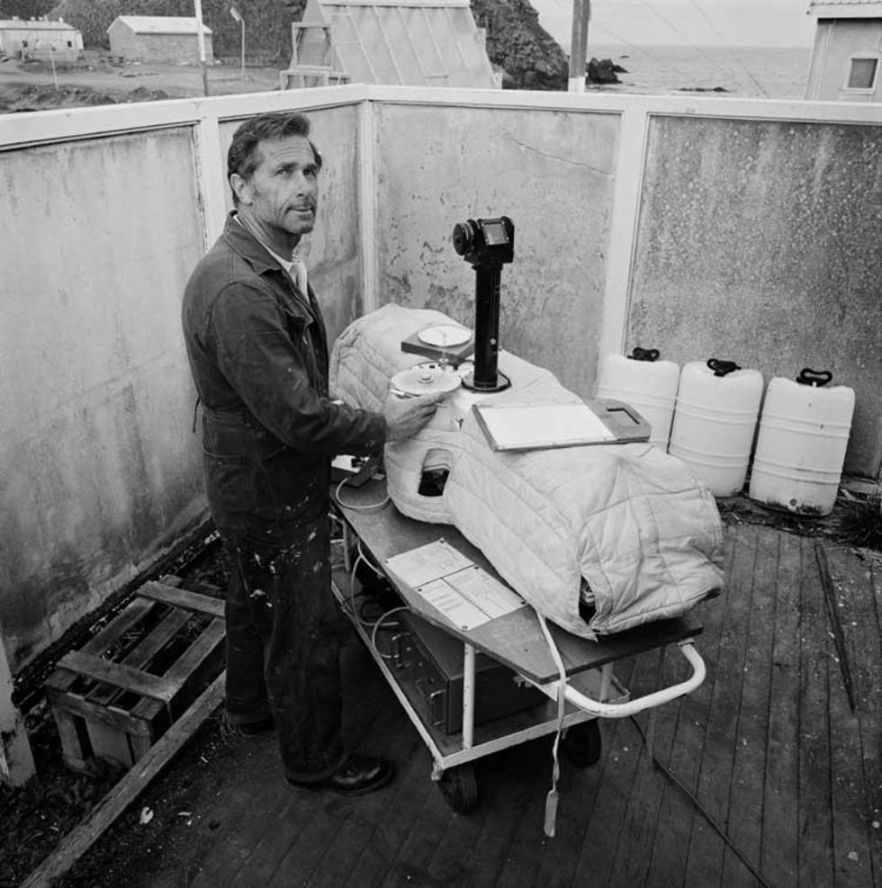
[[[832,371],[857,399],[845,469],[878,477],[880,243],[882,128],[656,118],[627,346]]]

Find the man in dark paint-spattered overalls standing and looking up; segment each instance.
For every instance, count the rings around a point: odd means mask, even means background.
[[[261,114],[229,146],[235,210],[184,292],[202,402],[209,507],[233,569],[226,600],[226,713],[277,731],[293,785],[342,794],[389,782],[383,759],[340,738],[337,612],[330,591],[330,460],[379,454],[419,431],[439,397],[390,395],[382,414],[329,399],[329,351],[293,250],[312,230],[321,157],[302,114]]]

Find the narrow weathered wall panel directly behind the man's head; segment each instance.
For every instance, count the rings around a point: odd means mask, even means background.
[[[307,116],[312,124],[312,142],[322,159],[319,211],[315,229],[302,239],[297,252],[310,270],[310,283],[320,301],[328,336],[333,340],[364,313],[365,306],[358,227],[358,108],[322,108],[308,112]],[[225,158],[240,122],[225,123],[220,128]],[[227,208],[232,209],[229,189]]]

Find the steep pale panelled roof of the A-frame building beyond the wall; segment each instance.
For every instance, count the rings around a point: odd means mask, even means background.
[[[351,83],[500,85],[469,0],[309,0],[301,24],[330,25],[331,46],[304,34],[297,63]]]

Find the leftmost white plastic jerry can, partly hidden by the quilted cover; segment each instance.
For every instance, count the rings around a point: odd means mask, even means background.
[[[657,348],[637,347],[627,356],[608,354],[603,358],[596,394],[635,408],[653,428],[650,444],[664,451],[671,435],[679,384],[679,364],[660,361]]]

